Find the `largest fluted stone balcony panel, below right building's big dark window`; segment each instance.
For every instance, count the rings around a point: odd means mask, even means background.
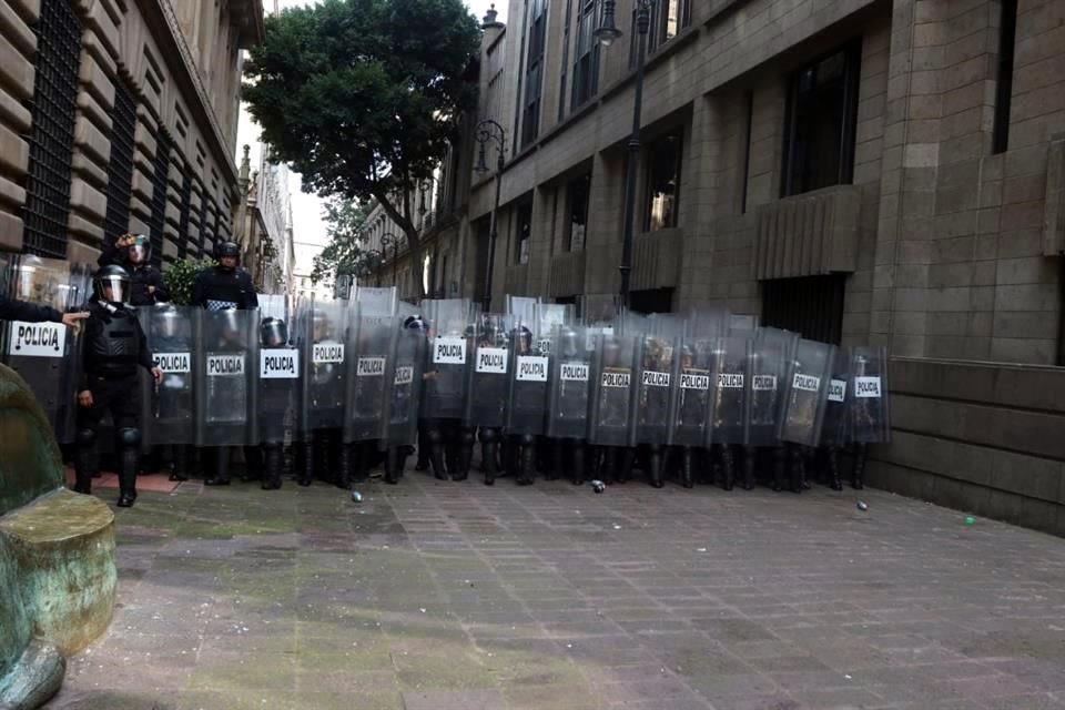
[[[759,207],[754,277],[792,278],[853,272],[861,189],[825,187]]]

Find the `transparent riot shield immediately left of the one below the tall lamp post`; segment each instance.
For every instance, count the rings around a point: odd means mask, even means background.
[[[587,328],[555,326],[547,402],[547,435],[552,438],[588,438],[595,337],[591,337],[591,347],[588,344]]]

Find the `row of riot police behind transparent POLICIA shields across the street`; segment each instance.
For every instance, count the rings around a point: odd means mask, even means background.
[[[89,292],[85,272],[38,262],[12,271],[11,291],[60,308]],[[281,486],[288,458],[301,485],[349,487],[378,466],[394,484],[417,448],[418,468],[442,480],[468,478],[479,458],[489,485],[641,471],[656,487],[761,478],[801,490],[811,465],[840,488],[851,450],[860,487],[866,445],[890,433],[883,348],[807,341],[723,310],[586,324],[535,298],[484,314],[468,300],[415,306],[394,288],[359,288],[351,302],[267,295],[257,310],[159,304],[136,317],[162,371],[158,384],[141,373],[140,446],[163,452],[178,480],[194,449],[213,449],[207,483],[229,483],[244,447],[263,488]],[[78,337],[49,324],[3,331],[4,362],[71,443]]]

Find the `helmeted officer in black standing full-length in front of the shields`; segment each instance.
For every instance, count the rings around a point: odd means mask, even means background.
[[[121,266],[104,266],[93,278],[95,300],[89,304],[82,377],[78,388],[78,454],[74,459],[77,493],[89,494],[95,462],[97,430],[108,412],[114,420],[119,452],[119,507],[136,500],[140,457],[140,387],[136,366],[163,373],[155,365],[136,315],[125,307],[130,277]]]

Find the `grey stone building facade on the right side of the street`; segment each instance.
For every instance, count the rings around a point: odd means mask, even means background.
[[[652,4],[633,307],[889,346],[872,478],[1065,534],[1065,3]],[[511,0],[485,26],[479,118],[507,130],[496,304],[615,302],[632,0],[609,48],[600,12]],[[464,295],[489,272],[494,197],[474,174]]]

